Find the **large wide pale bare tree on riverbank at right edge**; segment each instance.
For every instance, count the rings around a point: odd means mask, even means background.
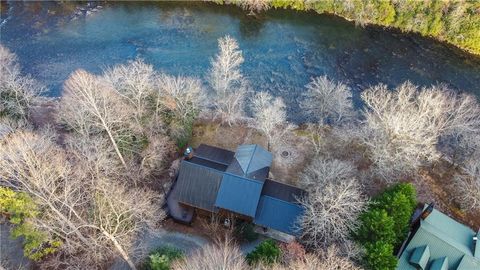
[[[480,131],[475,97],[444,86],[418,91],[406,82],[390,91],[379,85],[364,91],[362,99],[367,108],[363,143],[374,171],[385,181],[438,160],[440,136]]]

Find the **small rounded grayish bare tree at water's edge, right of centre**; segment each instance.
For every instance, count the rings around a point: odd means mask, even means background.
[[[301,107],[321,124],[339,123],[353,116],[352,92],[345,84],[320,76],[305,87]]]

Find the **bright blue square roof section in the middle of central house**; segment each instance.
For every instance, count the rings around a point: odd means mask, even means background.
[[[224,173],[215,206],[255,217],[263,182]]]

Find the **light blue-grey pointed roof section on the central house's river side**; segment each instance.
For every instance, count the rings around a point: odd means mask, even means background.
[[[256,144],[240,145],[227,171],[250,179],[265,180],[273,156]],[[265,169],[268,168],[268,169]]]

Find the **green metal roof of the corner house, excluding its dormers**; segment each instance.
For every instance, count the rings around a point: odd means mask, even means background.
[[[417,269],[409,263],[409,260],[415,249],[423,246],[428,246],[430,251],[427,269],[435,260],[444,257],[447,257],[448,269],[480,269],[461,266],[463,260],[465,260],[463,264],[468,264],[469,267],[471,262],[480,265],[480,259],[473,257],[474,231],[438,210],[434,209],[425,220],[420,220],[419,228],[414,233],[400,256],[397,269]]]

